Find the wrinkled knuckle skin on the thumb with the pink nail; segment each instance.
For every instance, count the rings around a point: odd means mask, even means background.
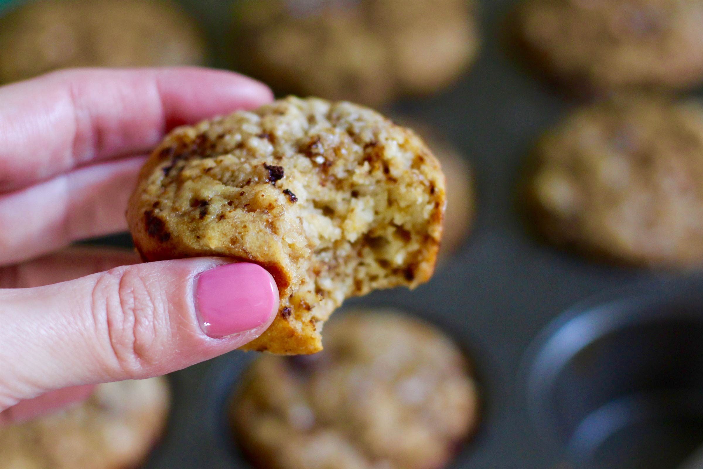
[[[101,307],[93,314],[103,323],[105,349],[118,373],[140,378],[141,371],[153,356],[150,350],[159,339],[159,314],[162,305],[155,301],[148,282],[138,269],[118,267],[103,272],[95,286],[93,298]]]

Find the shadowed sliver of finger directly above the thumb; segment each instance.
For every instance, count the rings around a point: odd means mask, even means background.
[[[0,268],[0,288],[32,288],[74,280],[114,267],[139,264],[131,249],[73,246]]]

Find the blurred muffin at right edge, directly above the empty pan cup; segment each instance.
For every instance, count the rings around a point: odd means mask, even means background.
[[[576,110],[538,142],[527,181],[553,243],[627,264],[703,262],[703,109],[611,101]]]

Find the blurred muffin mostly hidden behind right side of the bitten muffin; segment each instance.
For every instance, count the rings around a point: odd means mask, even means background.
[[[476,192],[471,166],[437,129],[406,117],[394,116],[393,120],[415,131],[441,165],[446,179],[446,211],[439,260],[446,259],[460,248],[472,229],[476,214]]]

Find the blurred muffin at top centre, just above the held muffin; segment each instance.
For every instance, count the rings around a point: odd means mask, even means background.
[[[465,1],[250,1],[240,65],[278,91],[381,105],[451,84],[477,52]]]

